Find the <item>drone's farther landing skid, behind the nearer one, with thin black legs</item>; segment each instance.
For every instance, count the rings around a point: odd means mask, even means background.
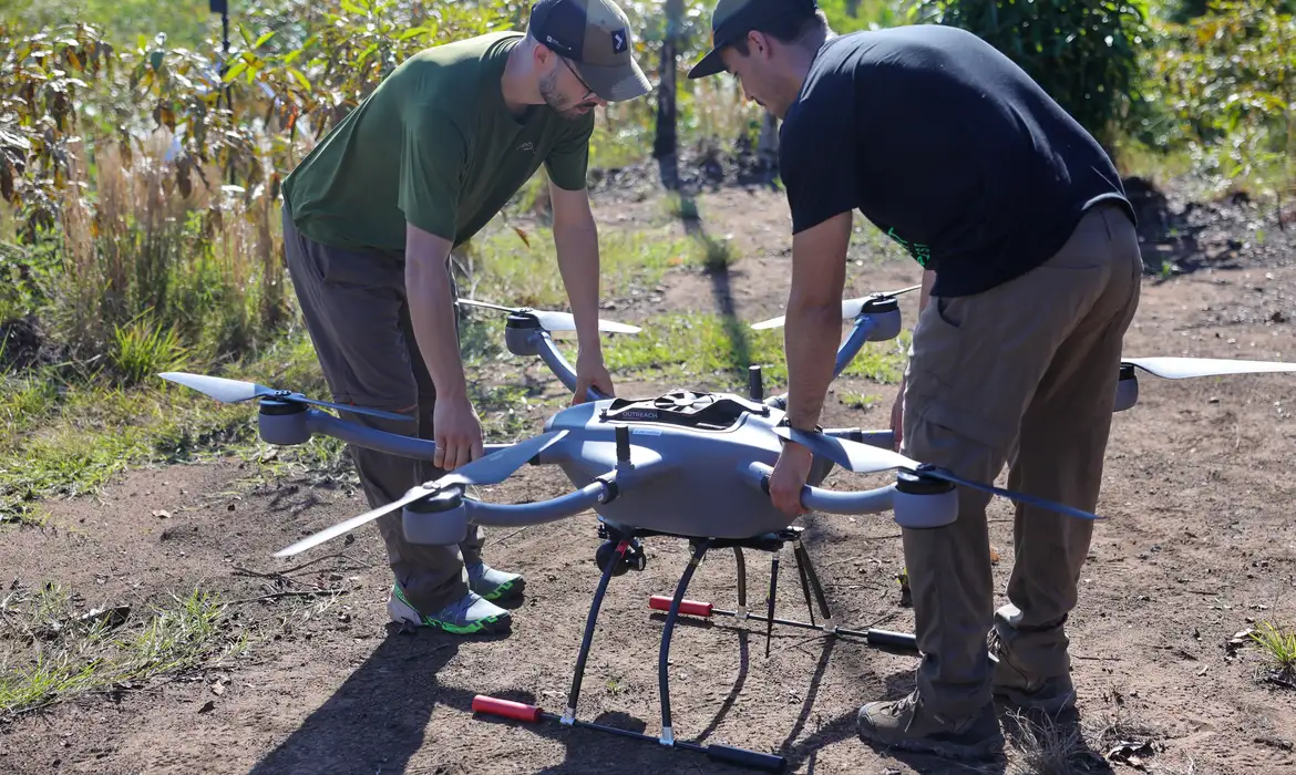
[[[892,630],[879,630],[875,627],[870,627],[867,630],[850,630],[846,627],[839,627],[833,622],[832,612],[828,609],[828,599],[823,592],[823,584],[819,582],[819,574],[815,573],[814,564],[810,561],[810,552],[801,540],[801,533],[804,530],[804,527],[787,527],[778,533],[770,533],[753,539],[713,542],[712,548],[732,547],[734,549],[734,560],[737,564],[737,609],[726,610],[723,608],[715,608],[710,603],[682,600],[679,607],[680,613],[702,618],[727,616],[740,621],[753,619],[757,622],[765,622],[766,657],[770,656],[770,639],[774,632],[774,625],[801,627],[805,630],[819,630],[828,635],[862,638],[868,645],[872,647],[898,651],[906,654],[916,654],[918,643],[911,632],[894,632]],[[785,548],[784,544],[787,543],[792,544],[792,556],[796,560],[797,575],[801,579],[801,592],[805,596],[806,609],[810,613],[809,622],[778,618],[774,616],[775,592],[779,582],[779,560],[783,549]],[[746,609],[746,561],[743,556],[744,547],[771,552],[774,555],[770,564],[770,594],[766,597],[766,616],[748,613]],[[818,603],[819,605],[819,613],[823,616],[822,623],[815,622],[811,594],[814,595],[814,603]],[[670,597],[653,595],[648,600],[648,607],[654,610],[667,610],[671,603]]]

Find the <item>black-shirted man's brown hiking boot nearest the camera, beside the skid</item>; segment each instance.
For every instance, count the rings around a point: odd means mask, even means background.
[[[923,705],[918,691],[899,700],[870,702],[855,715],[855,728],[868,743],[958,759],[980,759],[1003,750],[1003,731],[986,702],[960,718],[942,717]]]

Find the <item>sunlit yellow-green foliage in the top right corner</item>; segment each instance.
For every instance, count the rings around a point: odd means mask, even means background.
[[[1290,185],[1296,154],[1296,17],[1269,1],[1212,3],[1156,25],[1142,139],[1187,149],[1218,185]]]

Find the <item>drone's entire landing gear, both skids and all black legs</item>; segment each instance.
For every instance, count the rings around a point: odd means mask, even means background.
[[[730,616],[737,619],[753,619],[765,622],[765,654],[770,656],[770,639],[772,636],[774,625],[802,627],[809,630],[819,630],[833,636],[855,636],[862,638],[868,645],[885,648],[889,651],[899,651],[902,653],[918,654],[918,647],[914,635],[907,632],[893,632],[890,630],[849,630],[845,627],[839,627],[833,623],[832,613],[828,608],[827,596],[823,592],[823,586],[819,583],[819,575],[815,573],[814,565],[810,561],[810,553],[801,540],[802,527],[785,527],[776,533],[766,533],[763,535],[756,535],[744,539],[715,539],[715,538],[699,538],[689,535],[670,535],[665,533],[654,533],[645,530],[618,530],[610,527],[605,524],[599,526],[599,535],[608,539],[607,543],[599,549],[599,565],[603,568],[603,575],[599,579],[599,587],[594,594],[594,601],[590,605],[590,613],[584,622],[584,636],[581,642],[581,651],[577,654],[575,670],[572,678],[572,689],[568,693],[566,710],[561,715],[556,713],[550,713],[539,706],[527,705],[525,702],[516,702],[512,700],[500,700],[496,697],[487,697],[483,695],[477,695],[473,697],[473,710],[476,713],[485,713],[491,715],[499,715],[504,718],[511,718],[516,721],[525,722],[542,722],[542,721],[556,721],[559,723],[581,727],[587,730],[597,730],[601,732],[612,732],[614,735],[621,735],[623,737],[634,737],[639,740],[658,743],[661,745],[667,745],[671,748],[680,748],[684,750],[692,750],[696,753],[704,753],[708,757],[727,762],[731,765],[753,767],[757,770],[765,770],[770,772],[783,772],[787,770],[787,758],[781,756],[761,753],[756,750],[749,750],[745,748],[734,748],[730,745],[718,744],[697,744],[689,743],[687,740],[678,740],[675,737],[675,730],[671,724],[670,713],[670,674],[669,674],[669,658],[670,658],[670,639],[675,631],[675,622],[679,619],[680,614],[696,616],[696,617],[712,617],[712,616]],[[584,678],[584,666],[590,656],[590,647],[594,642],[594,629],[595,622],[599,617],[599,608],[603,605],[603,596],[608,590],[608,583],[612,581],[613,575],[621,575],[626,570],[643,570],[644,569],[644,556],[639,546],[639,539],[651,535],[669,535],[671,538],[682,538],[688,540],[691,549],[691,557],[688,565],[684,566],[683,574],[679,577],[679,583],[675,587],[675,594],[670,597],[664,595],[654,595],[649,599],[649,608],[656,610],[666,612],[666,622],[662,627],[661,634],[661,649],[657,656],[657,684],[658,696],[661,702],[661,736],[645,735],[643,732],[634,732],[630,730],[619,730],[616,727],[609,727],[607,724],[600,724],[595,722],[581,721],[575,717],[577,702],[581,696],[581,682]],[[801,579],[801,591],[805,595],[806,608],[810,610],[810,622],[800,622],[794,619],[784,619],[774,616],[775,592],[778,588],[779,578],[779,561],[781,553],[787,544],[792,544],[792,555],[797,564],[797,575]],[[610,548],[610,551],[609,551]],[[701,564],[702,557],[708,551],[732,548],[734,559],[737,564],[737,609],[724,610],[714,608],[710,603],[699,603],[695,600],[687,600],[684,592],[688,590],[688,583],[693,577],[693,572]],[[766,616],[758,616],[748,613],[746,610],[746,561],[743,549],[754,549],[772,553],[771,566],[770,566],[770,591],[766,597]],[[823,617],[822,623],[815,622],[814,603],[818,603],[819,613]]]

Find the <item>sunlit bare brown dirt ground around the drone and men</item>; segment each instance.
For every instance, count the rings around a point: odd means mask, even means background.
[[[629,207],[618,228],[660,218],[652,201]],[[723,277],[677,271],[664,301],[617,299],[610,318],[634,323],[667,310],[728,306],[745,321],[781,312],[787,292],[787,207],[769,191],[700,198],[713,235],[735,235]],[[1172,203],[1172,207],[1175,205]],[[1174,215],[1174,237],[1150,232],[1146,257],[1168,255],[1182,273],[1150,272],[1129,334],[1129,355],[1296,358],[1296,266],[1290,242],[1245,202]],[[1198,220],[1192,220],[1196,218]],[[1192,241],[1187,241],[1188,236]],[[1160,258],[1157,258],[1157,266]],[[915,283],[907,262],[851,264],[854,292]],[[902,297],[906,325],[916,294]],[[623,395],[677,385],[621,382]],[[737,386],[735,386],[737,388]],[[829,399],[826,425],[885,428],[894,386],[842,380],[836,395],[879,398],[870,408]],[[1296,487],[1287,478],[1296,441],[1290,375],[1185,381],[1140,375],[1139,404],[1115,417],[1095,533],[1070,621],[1074,680],[1095,753],[1112,771],[1296,772],[1296,691],[1264,680],[1255,649],[1230,644],[1262,619],[1296,623]],[[535,419],[539,429],[540,419]],[[310,584],[336,599],[281,596],[237,603],[236,627],[264,634],[224,669],[69,700],[0,726],[0,772],[356,774],[388,772],[743,772],[684,750],[472,713],[474,695],[537,702],[561,713],[599,581],[591,513],[515,533],[491,531],[486,556],[522,572],[527,592],[507,638],[395,632],[386,621],[390,575],[376,529],[292,561],[271,552],[364,511],[345,486],[280,480],[249,489],[250,464],[139,470],[101,498],[49,504],[51,525],[9,527],[0,540],[8,584],[58,579],[83,605],[144,607],[196,584],[246,600]],[[835,473],[828,486],[883,480]],[[487,489],[495,502],[566,490],[561,473],[524,468]],[[166,509],[159,520],[154,509]],[[991,504],[997,604],[1012,566],[1011,512]],[[910,631],[894,574],[902,568],[889,516],[811,515],[801,522],[836,619]],[[613,579],[587,665],[578,715],[656,735],[662,617],[648,597],[673,592],[683,542],[649,539],[648,566]],[[329,557],[292,573],[268,573]],[[779,616],[805,618],[791,552]],[[749,601],[763,605],[769,556],[748,552]],[[688,597],[735,605],[732,553],[700,566]],[[759,622],[682,621],[673,651],[677,737],[789,758],[796,772],[967,772],[933,757],[875,752],[854,732],[859,704],[912,686],[916,658],[819,632],[774,631],[769,658]],[[214,691],[214,686],[220,692]],[[975,771],[1036,771],[1016,756]]]

